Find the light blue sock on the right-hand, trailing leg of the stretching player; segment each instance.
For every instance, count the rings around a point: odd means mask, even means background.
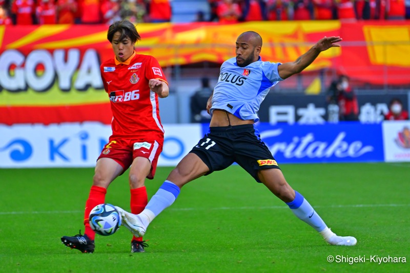
[[[295,191],[295,199],[292,202],[286,203],[292,212],[300,220],[311,225],[316,231],[321,232],[327,226],[323,222],[322,218],[315,212],[311,204],[304,199],[304,197]]]

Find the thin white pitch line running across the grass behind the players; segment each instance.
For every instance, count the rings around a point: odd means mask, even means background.
[[[314,208],[381,208],[381,207],[410,207],[410,204],[346,204],[331,206],[313,206]],[[220,208],[179,208],[169,209],[171,211],[202,211],[202,210],[272,210],[272,209],[289,209],[288,206],[270,206],[270,207],[220,207]],[[65,213],[83,213],[84,211],[11,211],[0,212],[0,215],[18,215],[18,214],[65,214]]]

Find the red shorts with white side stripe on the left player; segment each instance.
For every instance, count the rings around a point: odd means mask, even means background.
[[[134,158],[145,157],[151,162],[151,172],[148,179],[153,179],[157,169],[158,156],[162,151],[163,139],[157,140],[126,140],[112,139],[104,146],[99,158],[107,157],[115,160],[124,168],[124,172],[131,166]],[[98,160],[97,159],[97,160]]]

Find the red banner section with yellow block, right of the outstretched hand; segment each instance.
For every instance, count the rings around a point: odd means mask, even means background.
[[[410,83],[410,21],[342,24],[341,65],[356,81],[372,84]]]

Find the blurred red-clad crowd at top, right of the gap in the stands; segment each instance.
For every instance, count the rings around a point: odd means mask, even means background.
[[[208,0],[211,21],[410,18],[410,0]]]

